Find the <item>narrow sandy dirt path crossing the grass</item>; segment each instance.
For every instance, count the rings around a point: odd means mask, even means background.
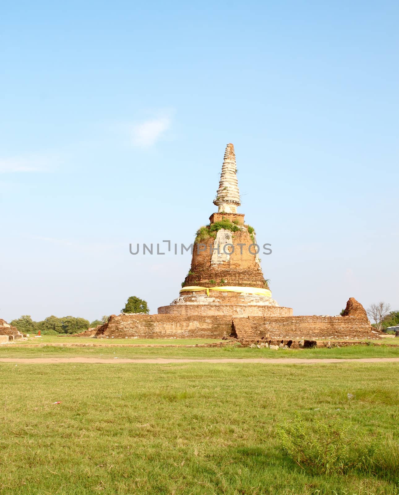
[[[223,359],[186,359],[186,358],[149,358],[149,359],[101,359],[100,357],[2,357],[2,363],[29,363],[29,364],[45,364],[45,363],[85,363],[85,364],[171,364],[171,363],[262,363],[262,364],[331,364],[331,363],[399,363],[399,357],[364,357],[360,359],[295,359],[295,358],[223,358]]]

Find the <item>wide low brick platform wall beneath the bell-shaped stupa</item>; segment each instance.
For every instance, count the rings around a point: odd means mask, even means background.
[[[355,299],[353,299],[355,301]],[[352,305],[353,305],[352,301]],[[357,303],[357,301],[355,301]],[[357,303],[359,304],[359,303]],[[359,304],[360,307],[362,307]],[[359,306],[348,316],[292,316],[260,315],[238,317],[226,309],[226,305],[203,305],[202,314],[125,314],[110,316],[108,323],[97,329],[95,337],[137,337],[142,339],[222,339],[234,338],[243,345],[267,341],[302,341],[316,339],[375,339],[378,334],[372,330],[367,316]],[[171,308],[173,306],[164,306]],[[177,305],[174,307],[178,307]],[[182,305],[184,310],[189,305]],[[198,305],[194,305],[198,308]],[[246,307],[243,306],[245,309]],[[247,306],[247,309],[249,306]],[[259,306],[254,306],[259,308]],[[267,308],[267,306],[266,306]],[[272,311],[291,310],[269,306]],[[160,308],[162,309],[162,308]],[[236,307],[235,307],[236,309]],[[212,311],[212,314],[207,314]],[[220,310],[220,314],[215,314]],[[226,314],[223,313],[226,310]],[[198,309],[197,309],[198,311]],[[292,310],[291,310],[292,311]]]

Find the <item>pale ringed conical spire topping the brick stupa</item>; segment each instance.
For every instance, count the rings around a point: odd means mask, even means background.
[[[236,155],[234,146],[231,143],[226,146],[226,151],[224,152],[219,189],[213,204],[218,206],[218,212],[225,213],[237,213],[237,206],[241,204],[237,181]]]

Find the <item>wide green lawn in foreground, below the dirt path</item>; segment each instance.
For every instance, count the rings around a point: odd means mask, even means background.
[[[396,364],[2,363],[0,380],[4,495],[398,494],[398,472],[312,473],[277,435],[297,410],[398,447]]]

